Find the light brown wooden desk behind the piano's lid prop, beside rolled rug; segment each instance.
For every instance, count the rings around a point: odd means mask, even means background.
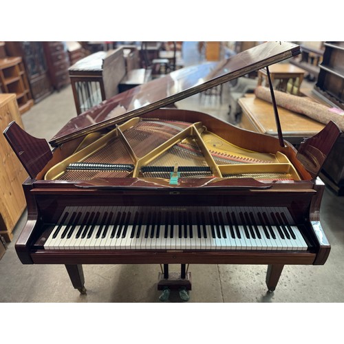
[[[271,103],[249,94],[238,101],[242,116],[239,127],[278,137],[274,109]],[[307,116],[277,107],[284,140],[298,145],[303,138],[319,133],[325,125]]]

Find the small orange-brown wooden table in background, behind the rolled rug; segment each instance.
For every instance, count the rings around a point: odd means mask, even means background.
[[[279,81],[276,85],[276,89],[282,92],[288,91],[288,82],[291,81],[291,91],[289,93],[299,96],[300,86],[303,81],[305,71],[290,63],[276,63],[269,67],[271,82],[275,87],[275,81]],[[258,71],[258,83],[257,86],[268,86],[268,74],[266,69],[259,69]],[[294,90],[296,89],[296,90]],[[293,92],[294,91],[294,92]]]

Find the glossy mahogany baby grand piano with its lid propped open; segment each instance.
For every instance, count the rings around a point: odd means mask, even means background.
[[[268,42],[130,89],[70,120],[50,141],[5,131],[28,171],[23,264],[160,264],[159,290],[191,290],[186,264],[266,264],[275,290],[286,264],[325,264],[317,175],[340,131],[330,122],[299,151],[211,115],[167,107],[299,54]],[[169,264],[180,264],[178,276]]]

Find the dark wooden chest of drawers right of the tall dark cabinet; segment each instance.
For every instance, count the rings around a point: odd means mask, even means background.
[[[52,86],[59,90],[70,83],[67,46],[63,42],[43,42],[43,49]]]

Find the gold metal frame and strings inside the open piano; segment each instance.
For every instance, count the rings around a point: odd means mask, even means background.
[[[75,162],[79,163],[80,169],[70,168]],[[97,169],[98,165],[90,163],[133,164],[135,168],[133,171],[111,171]],[[286,155],[280,152],[259,153],[242,149],[207,131],[200,122],[140,118],[125,122],[76,151],[50,169],[45,179],[169,179],[171,171],[164,170],[166,166],[177,166],[180,169],[179,178],[299,180],[297,171]],[[196,170],[196,167],[199,169]]]

